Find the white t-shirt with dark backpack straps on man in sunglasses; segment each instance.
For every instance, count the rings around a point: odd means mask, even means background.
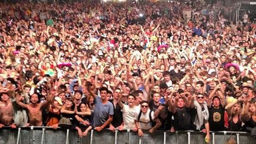
[[[151,111],[150,109],[148,109],[148,111],[145,114],[142,113],[139,120],[138,120],[139,113],[136,113],[135,115],[136,120],[139,121],[140,128],[143,130],[149,130],[152,127],[152,121],[149,118],[150,112],[151,112],[151,118],[152,120],[154,120],[155,119],[154,112]]]

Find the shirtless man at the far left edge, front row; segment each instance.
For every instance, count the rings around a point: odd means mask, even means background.
[[[1,94],[0,101],[0,128],[4,126],[10,126],[16,128],[13,120],[14,109],[12,103],[9,100],[9,95],[7,92]]]

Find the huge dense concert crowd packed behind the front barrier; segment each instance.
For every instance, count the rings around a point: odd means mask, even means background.
[[[0,127],[256,132],[256,25],[231,8],[1,4]]]

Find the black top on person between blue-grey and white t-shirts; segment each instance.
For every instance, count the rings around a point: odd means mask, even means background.
[[[113,100],[110,100],[110,102],[114,106],[114,115],[111,124],[114,127],[118,127],[121,125],[121,123],[123,123],[123,112],[121,111],[121,107],[119,104],[114,105]]]

